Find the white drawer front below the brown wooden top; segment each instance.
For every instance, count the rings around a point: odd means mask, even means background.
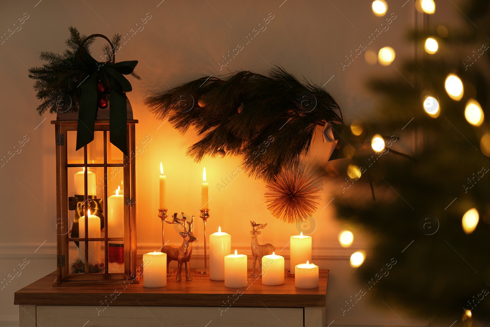
[[[302,327],[303,308],[38,305],[42,327]]]

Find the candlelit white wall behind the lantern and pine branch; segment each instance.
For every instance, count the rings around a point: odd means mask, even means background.
[[[3,117],[0,156],[11,151],[25,135],[29,138],[22,152],[0,168],[0,279],[23,258],[29,259],[22,275],[0,290],[2,326],[14,326],[17,320],[14,291],[56,268],[55,144],[54,127],[49,124],[54,116],[36,114],[39,101],[32,89],[33,81],[27,78],[27,67],[43,63],[39,60],[42,50],[62,52],[68,26],[76,26],[85,34],[101,33],[111,37],[115,33],[126,34],[147,13],[147,17],[151,15],[144,29],[132,36],[117,54],[118,61],[139,60],[136,71],[143,80],[131,80],[133,92],[128,96],[134,116],[140,121],[136,141],[146,135],[151,137],[145,151],[137,156],[140,253],[159,248],[161,223],[156,217],[158,199],[155,195],[158,195],[156,176],[160,161],[165,165],[170,211],[196,216],[200,204],[200,175],[202,167],[206,166],[212,197],[208,230],[215,231],[220,225],[232,234],[234,248],[250,252],[249,220],[269,224],[259,241],[270,242],[276,249],[283,248],[289,236],[297,233],[296,226],[270,215],[264,203],[263,182],[240,175],[220,193],[215,183],[234,171],[239,160],[226,156],[224,159],[205,158],[196,164],[186,157],[186,148],[198,138],[193,132],[181,136],[169,124],[160,126],[162,122],[156,121],[143,105],[150,92],[167,90],[203,75],[217,76],[239,69],[266,74],[270,65],[280,64],[298,78],[305,76],[320,85],[329,81],[325,88],[339,102],[349,122],[366,116],[374,103],[364,87],[366,78],[397,74],[393,67],[368,65],[364,53],[344,70],[342,68],[344,56],[365,43],[364,37],[382,23],[383,18],[372,14],[367,0],[160,1],[42,0],[38,3],[38,0],[30,0],[0,4],[0,33],[7,32],[24,13],[28,15],[22,28],[0,45]],[[402,7],[404,2],[388,1],[388,12],[394,12],[396,19],[367,49],[377,53],[380,48],[391,46],[397,53],[395,67],[400,64],[400,58],[412,54],[404,36],[413,21],[414,1]],[[241,38],[270,13],[273,19],[266,25],[267,29],[220,70],[218,62],[222,56],[243,43]],[[100,45],[96,43],[93,47],[96,58]],[[337,235],[342,225],[335,218],[334,206],[330,204],[321,210],[332,199],[332,189],[339,187],[329,184],[321,173],[329,151],[318,134],[311,154],[305,159],[305,166],[320,167],[319,171],[313,171],[321,188],[321,199],[314,215],[318,227],[312,236],[314,262],[322,269],[330,269],[327,324],[335,320],[332,326],[402,326],[404,323],[392,311],[369,297],[342,315],[340,307],[355,294],[360,284],[347,266],[348,258],[357,249],[368,249],[368,241],[363,231],[354,227],[354,245],[347,250],[340,248]],[[199,221],[196,223],[197,234],[202,237],[202,226]],[[167,230],[171,242],[180,243],[181,238],[172,229]],[[281,254],[288,257],[288,249],[286,247]],[[202,252],[202,243],[196,244],[192,267],[202,265]],[[199,258],[201,260],[197,261]],[[405,321],[413,321],[399,310],[398,314]]]

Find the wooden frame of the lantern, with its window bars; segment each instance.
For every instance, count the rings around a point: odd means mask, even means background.
[[[122,280],[127,282],[139,282],[139,274],[136,269],[136,170],[135,170],[135,124],[137,120],[126,121],[127,131],[127,149],[128,154],[123,154],[122,163],[108,163],[107,160],[107,144],[109,138],[108,120],[96,120],[95,131],[103,131],[103,163],[88,163],[87,146],[83,148],[83,163],[68,162],[68,142],[67,132],[77,130],[77,120],[56,120],[51,121],[55,126],[56,134],[56,216],[57,222],[57,276],[53,285],[65,284],[86,284],[96,285],[105,283],[120,283]],[[90,238],[88,235],[88,219],[85,219],[84,238],[72,238],[70,234],[70,219],[68,210],[68,169],[69,168],[85,168],[84,174],[84,199],[88,199],[88,168],[102,167],[104,170],[104,191],[103,191],[103,217],[104,217],[104,235],[100,238]],[[122,167],[123,168],[123,204],[124,204],[124,237],[108,237],[107,223],[107,168]],[[129,187],[128,187],[129,185]],[[84,215],[87,217],[88,206],[84,206]],[[79,226],[82,228],[82,226]],[[88,241],[101,241],[104,243],[104,272],[89,273],[89,269],[85,269],[85,274],[71,274],[69,262],[69,242],[78,241],[85,243],[85,267],[88,267]],[[108,241],[123,241],[124,244],[124,273],[109,273],[108,267]]]

